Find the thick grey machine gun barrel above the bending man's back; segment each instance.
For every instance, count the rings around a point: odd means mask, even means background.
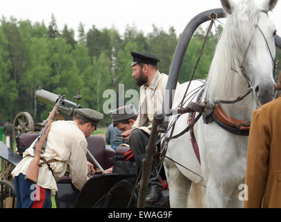
[[[35,99],[37,99],[37,101],[40,101],[40,103],[53,106],[56,104],[59,98],[60,96],[58,96],[57,94],[48,92],[41,88],[37,89],[37,91],[35,92]],[[65,119],[69,120],[69,117],[72,117],[74,113],[74,109],[79,109],[79,108],[83,108],[83,105],[78,105],[72,101],[63,99],[58,110],[60,111],[60,114],[62,114],[62,116]]]

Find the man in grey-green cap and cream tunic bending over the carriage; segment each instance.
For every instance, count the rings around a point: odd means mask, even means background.
[[[55,121],[47,137],[46,148],[40,155],[42,161],[53,160],[42,164],[39,169],[37,185],[24,180],[26,171],[34,157],[35,142],[26,149],[24,159],[12,171],[15,177],[15,193],[18,208],[51,207],[51,196],[56,194],[56,182],[65,175],[69,165],[70,177],[77,189],[82,189],[88,173],[94,174],[94,167],[87,162],[87,140],[103,114],[91,109],[74,110],[73,121]],[[36,189],[36,190],[35,190]]]

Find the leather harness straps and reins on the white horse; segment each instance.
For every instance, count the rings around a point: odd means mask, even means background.
[[[264,13],[266,13],[266,15],[268,15],[266,10],[260,10],[260,12],[264,12]],[[205,44],[207,42],[207,37],[208,37],[208,35],[209,35],[210,31],[211,31],[211,28],[212,28],[215,20],[217,20],[216,19],[216,15],[212,14],[210,16],[210,19],[211,19],[211,23],[210,23],[210,26],[208,28],[207,34],[205,36],[205,40],[203,42],[203,46],[202,46],[202,49],[201,49],[200,56],[198,57],[198,60],[197,60],[196,65],[194,67],[194,71],[193,71],[193,73],[191,75],[191,80],[189,81],[189,85],[187,86],[187,89],[185,91],[185,95],[183,96],[182,101],[178,105],[178,108],[176,108],[174,110],[171,110],[172,111],[171,114],[168,114],[168,116],[171,116],[173,114],[178,114],[178,115],[173,119],[172,123],[170,124],[169,128],[167,129],[167,132],[169,130],[171,130],[170,136],[168,137],[167,133],[165,133],[160,138],[160,140],[159,140],[159,141],[161,141],[163,139],[163,137],[164,137],[164,141],[163,141],[164,146],[162,146],[163,147],[162,148],[162,157],[167,157],[166,156],[167,144],[169,143],[169,140],[181,137],[185,133],[189,132],[189,130],[193,131],[194,125],[196,124],[196,122],[202,116],[203,116],[203,119],[204,119],[204,123],[211,123],[212,121],[215,121],[219,126],[221,126],[221,128],[227,130],[230,133],[233,133],[235,135],[248,136],[248,133],[249,133],[249,130],[250,130],[250,122],[249,121],[240,121],[238,119],[234,119],[232,117],[228,117],[227,114],[225,114],[225,112],[221,108],[221,104],[234,104],[234,103],[238,103],[239,101],[242,101],[243,99],[245,99],[246,96],[248,96],[251,92],[253,92],[253,84],[250,82],[250,79],[248,78],[248,76],[246,74],[246,69],[244,68],[244,62],[245,62],[248,50],[250,49],[250,44],[251,44],[251,42],[253,40],[253,36],[250,38],[250,42],[249,42],[249,44],[248,44],[248,46],[246,48],[246,51],[245,51],[245,54],[244,54],[244,58],[243,58],[243,60],[241,62],[241,65],[239,66],[241,74],[244,76],[244,78],[246,78],[246,81],[248,83],[248,90],[247,90],[246,94],[238,96],[237,98],[232,99],[232,100],[228,100],[228,101],[227,100],[219,100],[219,99],[217,99],[217,100],[212,101],[212,105],[210,105],[210,102],[207,101],[206,99],[202,103],[199,103],[198,101],[201,101],[201,96],[202,96],[203,92],[205,91],[205,84],[206,83],[204,83],[203,86],[199,87],[200,89],[198,89],[196,91],[196,94],[197,94],[201,90],[201,92],[199,93],[199,96],[198,96],[198,99],[197,99],[196,103],[191,102],[191,103],[189,103],[189,105],[187,105],[186,108],[183,108],[185,97],[187,96],[187,92],[188,92],[189,86],[191,85],[191,81],[194,78],[194,74],[195,74],[196,68],[197,68],[198,63],[199,63],[199,61],[201,59],[201,56],[203,54],[203,50],[204,50]],[[269,42],[266,40],[266,37],[265,37],[264,33],[262,32],[262,29],[259,28],[258,24],[255,25],[255,28],[257,28],[259,30],[259,32],[262,33],[262,36],[264,37],[267,49],[269,50],[269,53],[271,55],[271,59],[273,61],[273,76],[275,76],[275,74],[277,72],[278,61],[276,62],[275,58],[273,58],[273,54],[272,54],[271,49],[269,47]],[[239,72],[236,71],[235,69],[232,69],[232,71],[235,71],[237,74],[239,74]],[[191,98],[191,96],[189,97],[189,99],[190,98]],[[187,101],[189,99],[187,99]],[[198,112],[198,115],[195,118],[195,113],[196,112]],[[184,130],[182,130],[181,133],[178,133],[177,135],[173,135],[173,130],[175,129],[176,121],[179,119],[180,115],[185,114],[185,113],[189,113],[189,115],[192,114],[192,119],[188,120],[187,127]],[[194,139],[195,142],[196,142],[194,133],[191,134],[191,140],[192,139]],[[192,146],[194,147],[194,144],[192,144]],[[195,149],[194,149],[194,151],[195,151]],[[197,155],[196,155],[196,157],[198,158]],[[169,160],[171,160],[169,157],[167,157],[167,158]],[[163,164],[163,160],[164,160],[164,158],[160,162],[160,166]],[[198,160],[199,160],[199,163],[200,163],[200,156],[199,156]],[[176,162],[175,160],[171,160],[171,161]],[[179,164],[179,163],[177,163],[177,164]],[[180,164],[180,166],[184,167],[182,164]],[[184,167],[184,168],[187,169],[187,167]],[[187,169],[187,170],[189,170],[189,169]],[[189,171],[191,171],[191,170],[189,170]],[[196,174],[197,176],[199,176],[194,171],[191,171],[191,172]]]

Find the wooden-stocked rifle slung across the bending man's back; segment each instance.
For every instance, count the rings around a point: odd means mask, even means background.
[[[35,150],[34,150],[34,158],[31,161],[31,163],[28,166],[25,180],[31,183],[37,183],[38,180],[38,173],[39,173],[39,165],[40,165],[40,153],[42,151],[42,146],[46,142],[46,138],[48,137],[48,134],[51,129],[51,123],[53,122],[53,118],[56,115],[60,115],[58,113],[58,110],[60,108],[60,103],[62,100],[65,99],[65,96],[59,96],[58,101],[56,102],[56,105],[53,107],[53,110],[49,114],[48,119],[44,122],[44,126],[42,130],[40,131],[39,137],[37,138],[37,142],[35,143]]]

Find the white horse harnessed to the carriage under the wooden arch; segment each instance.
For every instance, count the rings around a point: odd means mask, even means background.
[[[250,121],[257,105],[267,103],[275,96],[276,30],[267,12],[277,2],[264,0],[261,6],[256,6],[253,0],[239,3],[221,0],[228,19],[216,46],[202,101],[206,99],[211,105],[217,99],[230,101],[246,94],[249,84],[253,87],[242,101],[221,104],[229,117]],[[187,85],[184,83],[176,89],[173,108],[182,101]],[[189,92],[200,85],[201,81],[192,81]],[[187,127],[188,115],[182,114],[176,121],[173,135]],[[167,157],[176,161],[164,160],[171,207],[187,207],[191,184],[205,187],[204,207],[243,207],[244,201],[239,200],[238,194],[244,185],[248,137],[229,133],[214,121],[206,124],[203,118],[194,126],[194,134],[201,164],[194,154],[190,133],[171,139],[167,145]],[[171,130],[167,133],[167,137],[170,136]],[[195,188],[198,191],[198,187]]]

